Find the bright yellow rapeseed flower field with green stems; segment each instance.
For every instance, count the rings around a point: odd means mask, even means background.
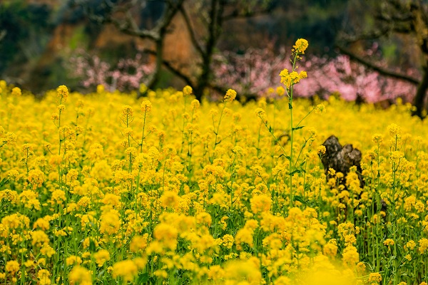
[[[245,104],[0,81],[0,284],[427,284],[427,122],[281,75]],[[364,187],[326,181],[330,135]]]

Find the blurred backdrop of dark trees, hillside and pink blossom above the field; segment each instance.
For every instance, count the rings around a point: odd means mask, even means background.
[[[297,95],[424,117],[427,0],[1,0],[0,78],[35,95],[193,87],[275,96],[297,38],[309,48]]]

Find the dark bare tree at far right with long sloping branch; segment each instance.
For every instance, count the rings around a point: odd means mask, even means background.
[[[338,47],[342,53],[350,56],[353,60],[374,69],[384,76],[407,81],[417,86],[414,95],[413,105],[416,107],[414,115],[423,118],[424,102],[428,90],[428,4],[424,0],[386,0],[386,1],[365,1],[362,9],[371,11],[370,21],[350,21],[339,36]],[[360,7],[361,8],[361,7]],[[345,46],[367,46],[373,41],[400,41],[402,54],[407,53],[403,58],[414,61],[419,65],[422,76],[415,76],[405,73],[406,68],[399,66],[392,69],[387,66],[380,66],[367,59],[367,56],[360,56],[355,51]]]

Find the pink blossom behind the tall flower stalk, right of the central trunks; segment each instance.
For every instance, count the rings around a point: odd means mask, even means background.
[[[216,56],[213,64],[216,83],[233,86],[241,94],[266,95],[270,87],[279,86],[280,71],[291,69],[285,48],[280,48],[278,54],[272,50],[270,44],[264,49],[249,48],[244,54],[225,52]],[[374,53],[377,53],[377,46],[367,51],[367,56],[374,56]],[[381,76],[344,55],[306,57],[300,66],[301,70],[307,71],[308,77],[295,87],[295,94],[304,97],[317,94],[326,98],[332,93],[340,93],[346,100],[371,103],[398,97],[410,101],[417,88],[407,81]],[[407,73],[417,75],[417,71]]]

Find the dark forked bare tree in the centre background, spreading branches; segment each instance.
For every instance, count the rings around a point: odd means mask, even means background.
[[[143,15],[141,9],[147,8],[148,3],[163,5],[162,16],[153,28],[146,28],[143,19],[138,23],[138,16]],[[75,1],[82,6],[86,14],[103,24],[113,24],[119,31],[139,38],[147,38],[155,43],[155,48],[146,48],[146,52],[156,56],[156,67],[148,81],[148,88],[153,88],[158,82],[161,66],[165,66],[175,76],[191,86],[197,98],[201,98],[206,88],[212,88],[221,93],[227,86],[215,86],[212,83],[212,62],[220,36],[227,21],[238,17],[252,17],[267,13],[269,1],[255,0],[168,0],[168,1],[135,1],[103,0],[101,9],[93,9],[88,1]],[[196,51],[197,58],[192,63],[182,63],[167,60],[163,56],[165,36],[174,26],[173,18],[180,14],[185,21],[185,27],[190,36],[190,43]]]

